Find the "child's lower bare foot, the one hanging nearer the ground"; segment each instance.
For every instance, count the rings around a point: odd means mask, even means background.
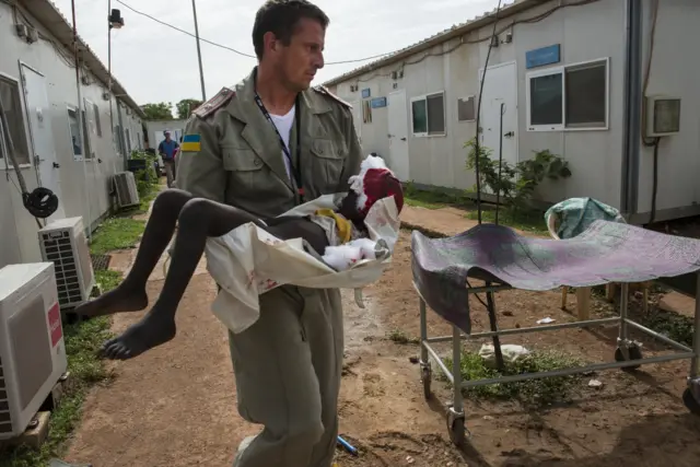
[[[121,336],[102,346],[102,355],[110,360],[129,360],[175,337],[175,320],[170,315],[151,310],[139,323]]]

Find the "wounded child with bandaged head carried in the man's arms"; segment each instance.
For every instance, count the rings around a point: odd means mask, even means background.
[[[175,337],[175,313],[185,289],[201,259],[207,238],[225,235],[253,222],[280,240],[302,238],[336,270],[347,269],[348,250],[360,257],[372,255],[368,248],[364,219],[378,200],[394,197],[400,212],[404,195],[400,182],[381,157],[370,155],[362,162],[359,175],[350,177],[350,191],[337,210],[318,210],[306,217],[259,219],[247,211],[190,194],[167,189],[153,202],[133,267],[126,279],[110,292],[75,308],[82,316],[102,316],[120,312],[137,312],[149,304],[145,292],[148,278],[167,248],[176,226],[173,259],[163,290],[153,307],[137,324],[120,336],[108,340],[101,353],[115,360],[132,359]],[[370,249],[370,250],[369,250]]]

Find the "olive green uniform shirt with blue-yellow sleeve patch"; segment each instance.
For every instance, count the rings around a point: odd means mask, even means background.
[[[176,186],[271,218],[292,209],[299,197],[280,139],[255,102],[254,74],[195,110],[185,129]],[[305,201],[347,191],[348,178],[360,172],[364,159],[351,107],[324,87],[302,92],[298,103],[301,151],[296,125],[289,141],[294,166],[301,165]],[[188,144],[188,137],[199,142]]]

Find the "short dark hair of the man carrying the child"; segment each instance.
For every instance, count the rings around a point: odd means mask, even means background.
[[[322,9],[307,0],[267,0],[255,15],[253,46],[258,60],[262,58],[265,33],[272,33],[288,46],[301,19],[315,20],[328,27],[330,20]]]

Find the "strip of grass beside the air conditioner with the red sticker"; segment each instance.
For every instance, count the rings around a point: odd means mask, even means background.
[[[109,319],[100,317],[63,328],[68,354],[68,380],[59,407],[49,419],[49,437],[40,450],[20,446],[0,453],[0,467],[44,467],[52,457],[61,457],[72,431],[82,417],[88,390],[95,384],[107,384],[112,374],[96,358],[102,343],[112,337]]]

